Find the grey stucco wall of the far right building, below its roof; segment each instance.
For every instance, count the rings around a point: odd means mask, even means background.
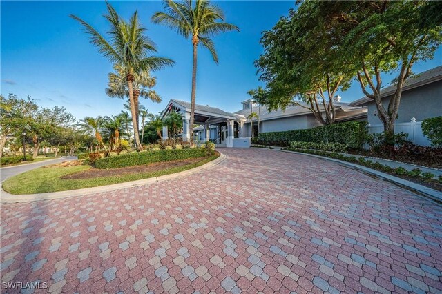
[[[390,97],[383,99],[385,109],[388,108]],[[376,105],[374,102],[367,104],[369,124],[382,124],[378,116],[374,115]],[[397,123],[410,122],[412,117],[422,121],[429,117],[442,115],[442,81],[407,90],[402,93],[399,104]]]

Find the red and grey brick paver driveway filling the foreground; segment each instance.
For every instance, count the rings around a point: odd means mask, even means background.
[[[219,166],[180,179],[3,204],[1,281],[65,293],[441,293],[441,206],[329,161],[222,152]]]

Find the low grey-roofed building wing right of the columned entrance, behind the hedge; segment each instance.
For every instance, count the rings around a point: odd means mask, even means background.
[[[237,115],[249,117],[251,112],[256,112],[259,117],[253,119],[254,135],[258,133],[279,132],[283,130],[298,130],[320,126],[313,113],[302,106],[290,106],[285,110],[269,111],[265,106],[251,104],[251,100],[242,101],[242,110],[235,112]],[[306,106],[305,103],[301,103]],[[334,102],[336,109],[336,123],[367,119],[367,110],[362,107],[352,107],[347,103]],[[325,115],[324,115],[325,116]],[[258,129],[259,128],[259,129]],[[244,121],[245,135],[251,136],[251,119]]]

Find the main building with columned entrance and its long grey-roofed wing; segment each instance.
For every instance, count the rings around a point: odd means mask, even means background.
[[[348,104],[335,102],[336,122],[366,119],[367,110],[361,107],[351,107]],[[191,104],[186,101],[171,99],[162,112],[164,118],[169,112],[182,114],[185,141],[190,139],[189,124]],[[314,115],[301,106],[291,106],[286,110],[271,111],[264,106],[251,104],[250,100],[242,101],[242,110],[234,113],[225,112],[220,108],[195,105],[194,135],[197,141],[213,141],[218,146],[249,147],[251,137],[251,119],[247,119],[251,111],[260,113],[260,132],[277,132],[281,130],[296,130],[319,126]],[[258,133],[258,119],[254,119],[255,135]],[[167,139],[167,127],[163,128],[163,138]]]

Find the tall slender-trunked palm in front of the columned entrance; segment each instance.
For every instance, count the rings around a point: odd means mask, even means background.
[[[193,4],[195,3],[195,4]],[[186,0],[183,2],[164,0],[165,12],[153,14],[154,23],[163,23],[169,28],[176,30],[186,39],[192,38],[193,45],[193,68],[192,68],[192,92],[191,92],[191,119],[190,136],[193,142],[193,124],[195,119],[195,94],[196,94],[196,68],[198,43],[209,49],[213,60],[218,64],[218,54],[215,43],[211,37],[220,32],[238,30],[237,26],[224,22],[222,10],[210,3],[209,0]]]

